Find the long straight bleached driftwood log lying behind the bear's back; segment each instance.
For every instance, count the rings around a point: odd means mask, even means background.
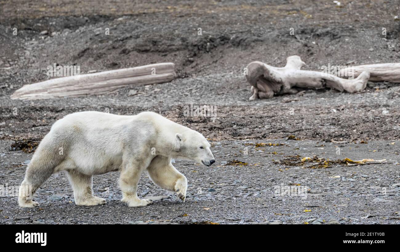
[[[157,63],[140,67],[60,77],[24,85],[16,90],[12,99],[42,99],[101,95],[127,85],[164,83],[176,78],[174,63]]]

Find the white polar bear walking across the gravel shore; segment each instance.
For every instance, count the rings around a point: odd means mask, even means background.
[[[76,205],[102,205],[93,195],[92,176],[120,171],[122,201],[130,207],[146,206],[139,199],[143,171],[159,187],[186,199],[188,182],[171,163],[186,159],[210,166],[215,162],[210,144],[195,130],[154,113],[121,116],[103,112],[77,112],[55,122],[40,142],[19,191],[20,207],[35,207],[32,195],[52,175],[67,171]]]

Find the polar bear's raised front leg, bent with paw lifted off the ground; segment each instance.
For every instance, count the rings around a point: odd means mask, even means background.
[[[174,191],[182,201],[185,201],[188,180],[182,173],[175,169],[169,158],[156,156],[150,163],[147,171],[154,184],[162,189]]]

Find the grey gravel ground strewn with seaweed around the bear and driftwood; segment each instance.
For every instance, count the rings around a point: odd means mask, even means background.
[[[207,168],[175,164],[188,178],[185,203],[144,174],[138,193],[156,197],[154,203],[129,208],[111,172],[94,177],[94,191],[107,204],[78,207],[58,173],[38,191],[39,208],[21,209],[16,197],[0,196],[0,223],[399,223],[399,85],[248,101],[242,71],[251,61],[283,66],[286,57],[300,55],[313,70],[400,62],[400,22],[393,18],[399,2],[341,2],[118,0],[80,2],[80,8],[74,0],[0,2],[1,185],[19,185],[34,146],[56,120],[78,111],[158,112],[204,134],[216,158]],[[22,85],[48,79],[46,67],[54,63],[87,73],[156,62],[174,62],[179,77],[101,96],[9,98]],[[184,116],[190,104],[214,106],[216,117]],[[349,166],[338,161],[344,158],[386,161]],[[278,195],[282,186],[307,193]]]

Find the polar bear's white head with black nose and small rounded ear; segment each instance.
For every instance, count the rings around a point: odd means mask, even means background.
[[[206,166],[215,162],[210,144],[199,132],[190,130],[183,134],[176,133],[175,140],[178,159],[193,160]]]

